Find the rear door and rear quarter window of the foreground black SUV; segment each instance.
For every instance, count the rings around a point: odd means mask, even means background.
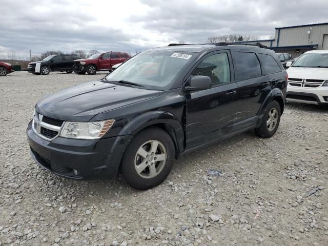
[[[257,124],[257,113],[272,86],[276,84],[281,69],[276,60],[268,54],[238,51],[233,53],[233,58],[238,86],[235,129],[239,131]]]

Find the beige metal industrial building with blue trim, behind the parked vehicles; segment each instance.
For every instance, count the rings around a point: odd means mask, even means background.
[[[275,38],[249,41],[261,43],[275,52],[300,56],[309,50],[328,50],[328,23],[309,24],[291,27],[276,27]],[[240,41],[238,43],[246,43]]]

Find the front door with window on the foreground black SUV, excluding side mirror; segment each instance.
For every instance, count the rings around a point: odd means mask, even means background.
[[[196,65],[191,76],[209,76],[212,88],[186,94],[186,148],[190,149],[233,132],[237,84],[229,51],[212,52]]]

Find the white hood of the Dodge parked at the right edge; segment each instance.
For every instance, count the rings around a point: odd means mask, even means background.
[[[298,68],[290,67],[286,70],[290,78],[328,79],[328,68]]]

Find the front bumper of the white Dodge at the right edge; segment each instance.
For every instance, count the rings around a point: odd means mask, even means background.
[[[288,85],[286,100],[305,104],[328,105],[328,87],[320,86],[307,89]]]

